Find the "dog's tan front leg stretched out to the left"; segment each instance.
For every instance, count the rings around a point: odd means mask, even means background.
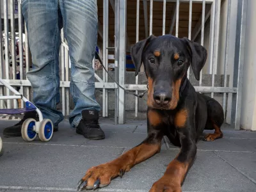
[[[163,134],[161,131],[153,131],[148,132],[147,139],[140,145],[125,152],[117,159],[90,168],[79,181],[77,189],[95,189],[108,186],[111,179],[118,175],[122,177],[136,164],[154,156],[161,149]]]

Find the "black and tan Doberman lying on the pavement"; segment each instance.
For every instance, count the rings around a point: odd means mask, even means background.
[[[188,38],[151,35],[132,46],[136,75],[145,66],[148,79],[147,138],[117,159],[90,168],[79,181],[78,189],[108,186],[111,179],[122,177],[138,163],[160,152],[163,136],[167,136],[180,152],[168,164],[166,172],[150,192],[177,192],[193,164],[196,143],[204,129],[215,129],[205,141],[222,138],[224,115],[221,105],[211,97],[195,92],[187,79],[191,65],[197,80],[205,65],[207,51]],[[161,163],[161,162],[159,162]]]

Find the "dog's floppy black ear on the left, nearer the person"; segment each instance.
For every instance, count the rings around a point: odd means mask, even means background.
[[[137,42],[136,44],[132,45],[131,47],[131,57],[132,57],[132,62],[135,65],[135,76],[138,75],[140,67],[141,67],[141,57],[142,53],[144,51],[144,48],[147,46],[148,42],[152,40],[152,38],[155,38],[156,36],[150,35],[148,38],[145,40],[141,40],[140,42]]]

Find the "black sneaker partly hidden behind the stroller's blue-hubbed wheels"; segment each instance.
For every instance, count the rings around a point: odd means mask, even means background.
[[[38,117],[38,114],[36,113],[36,111],[28,111],[28,112],[24,113],[24,116],[23,116],[22,120],[20,120],[20,122],[18,122],[17,124],[15,124],[11,127],[6,127],[3,131],[3,136],[6,138],[21,136],[22,124],[28,118],[33,118],[36,121],[39,121],[39,117]],[[58,131],[58,125],[54,126],[53,131]]]

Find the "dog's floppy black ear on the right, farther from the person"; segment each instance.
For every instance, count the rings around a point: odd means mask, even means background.
[[[205,61],[207,59],[207,51],[202,45],[196,42],[192,42],[186,37],[184,37],[183,39],[186,41],[189,52],[191,54],[192,70],[195,74],[196,80],[199,80],[200,71],[204,67]]]

